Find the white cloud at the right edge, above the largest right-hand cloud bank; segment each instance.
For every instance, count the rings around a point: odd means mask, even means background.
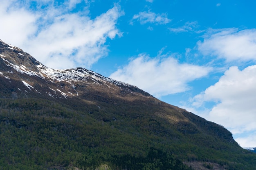
[[[215,55],[227,61],[256,60],[256,29],[210,29],[204,41],[198,42],[198,50],[204,55]]]

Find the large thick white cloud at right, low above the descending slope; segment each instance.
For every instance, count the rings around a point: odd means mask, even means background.
[[[232,133],[256,130],[256,65],[244,70],[236,66],[219,81],[193,98],[194,107],[202,107],[204,102],[217,104],[211,109],[208,120],[222,124]]]

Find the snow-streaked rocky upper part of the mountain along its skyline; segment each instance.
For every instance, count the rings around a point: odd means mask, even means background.
[[[123,91],[129,93],[140,93],[145,96],[151,96],[136,86],[116,81],[85,68],[48,68],[30,54],[2,40],[0,40],[0,65],[0,76],[4,76],[7,79],[12,77],[16,81],[23,82],[23,84],[26,82],[27,84],[24,84],[26,87],[29,87],[28,85],[31,87],[36,85],[38,89],[34,89],[40,92],[40,94],[43,94],[44,91],[47,92],[54,89],[54,94],[58,94],[57,96],[60,97],[74,97],[73,93],[76,94],[75,96],[78,96],[79,93],[75,90],[76,86],[74,84],[83,83],[83,86],[86,84],[92,88],[100,89],[100,86],[104,86],[110,89],[123,89]],[[14,72],[15,74],[13,74]],[[46,84],[48,84],[47,87],[43,87]],[[29,88],[29,90],[31,89]],[[57,92],[55,92],[56,90]],[[47,96],[54,96],[52,93],[47,92]]]

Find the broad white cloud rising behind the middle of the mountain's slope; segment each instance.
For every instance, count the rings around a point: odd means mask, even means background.
[[[150,58],[140,54],[110,77],[160,97],[189,90],[187,83],[206,76],[210,70],[198,65],[178,63],[173,56]]]

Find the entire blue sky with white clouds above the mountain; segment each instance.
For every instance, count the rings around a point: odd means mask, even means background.
[[[225,126],[256,147],[256,2],[0,0],[0,39]]]

